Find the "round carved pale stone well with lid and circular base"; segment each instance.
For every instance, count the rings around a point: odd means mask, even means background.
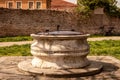
[[[31,34],[35,40],[31,45],[33,59],[19,63],[18,67],[31,73],[50,76],[87,76],[99,73],[102,65],[87,59],[90,50],[88,36],[75,31]]]

